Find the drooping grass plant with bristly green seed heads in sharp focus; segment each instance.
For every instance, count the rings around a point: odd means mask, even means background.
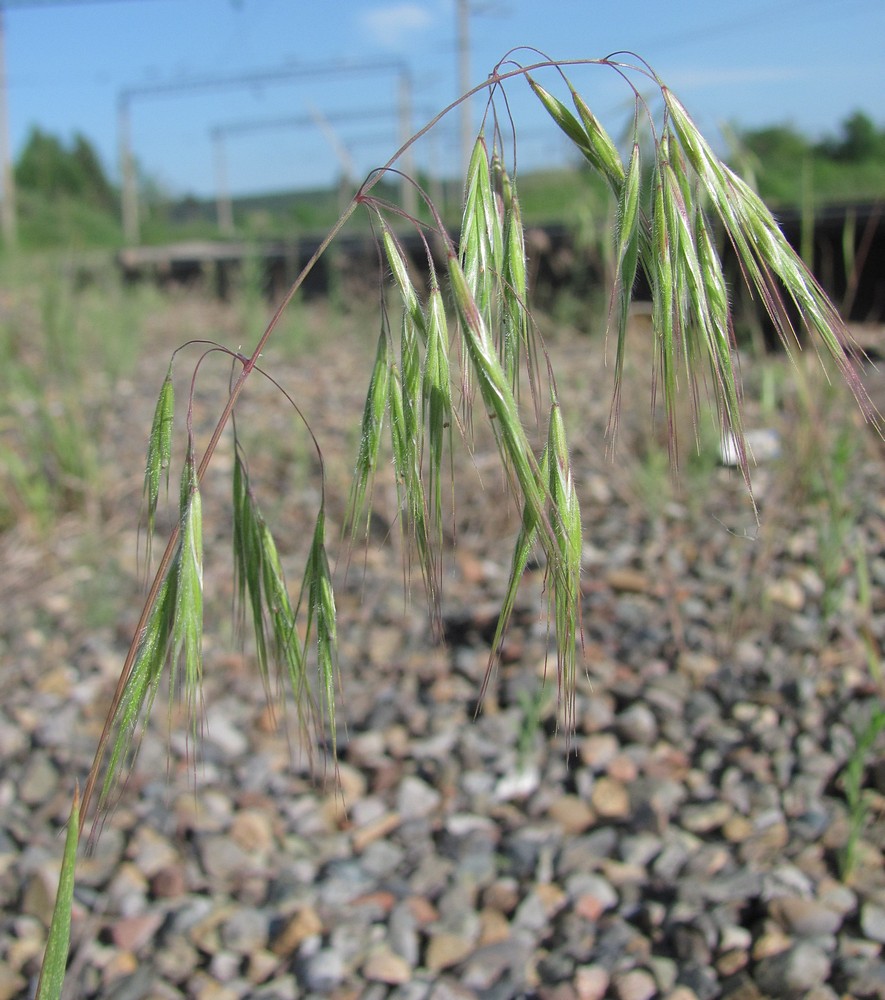
[[[518,60],[529,62],[520,64]],[[572,82],[586,72],[614,72],[635,99],[623,150],[591,111]],[[652,289],[653,393],[661,401],[671,460],[679,442],[680,400],[696,421],[706,386],[720,433],[737,441],[747,486],[750,464],[743,444],[742,396],[728,289],[717,252],[716,230],[733,245],[747,281],[768,309],[788,352],[798,334],[791,316],[818,350],[830,357],[868,416],[875,413],[844,349],[845,331],[834,307],[790,249],[757,195],[729,170],[699,133],[679,100],[640,60],[630,55],[559,63],[533,50],[509,53],[471,94],[487,98],[481,130],[465,178],[460,237],[455,243],[422,190],[423,212],[432,221],[403,217],[379,192],[396,176],[399,157],[419,141],[456,102],[409,140],[357,191],[340,220],[270,318],[248,353],[240,345],[202,341],[185,382],[176,378],[189,356],[176,353],[162,382],[149,434],[145,474],[149,530],[159,523],[166,482],[178,482],[175,526],[153,567],[141,615],[107,715],[80,812],[81,825],[97,805],[108,807],[138,749],[164,676],[181,689],[190,732],[199,733],[202,677],[202,517],[204,477],[226,434],[233,440],[231,467],[233,547],[239,614],[252,626],[258,669],[269,689],[278,682],[293,696],[306,730],[319,729],[334,762],[336,600],[327,540],[329,497],[323,456],[298,408],[298,400],[264,367],[268,342],[316,261],[361,211],[378,241],[377,350],[363,410],[350,495],[346,539],[355,543],[371,516],[376,475],[392,460],[399,529],[407,560],[420,571],[430,616],[440,626],[444,484],[453,449],[469,449],[474,427],[487,423],[494,436],[510,496],[521,512],[509,578],[489,655],[486,682],[497,658],[516,594],[527,567],[546,571],[548,621],[556,647],[560,724],[575,722],[575,688],[581,669],[582,527],[570,460],[566,420],[556,373],[530,308],[522,209],[515,153],[509,140],[509,88],[528,85],[552,124],[572,144],[586,169],[610,192],[615,210],[611,233],[613,284],[607,291],[614,355],[611,434],[618,429],[620,386],[627,363],[632,293],[642,273]],[[641,96],[649,85],[662,100],[655,119]],[[647,136],[651,135],[649,142]],[[642,138],[642,142],[640,139]],[[426,246],[429,280],[413,273],[396,233],[414,224]],[[390,280],[384,281],[384,275]],[[228,395],[219,401],[205,445],[195,432],[202,419],[197,386],[204,369],[231,369]],[[319,480],[314,521],[307,532],[300,581],[287,579],[279,545],[265,520],[250,476],[240,403],[256,379],[279,389],[317,455]],[[199,404],[199,405],[198,405]],[[176,440],[176,413],[184,415]],[[535,447],[535,442],[540,445]],[[600,442],[604,448],[604,442]],[[666,448],[666,446],[665,446]]]

